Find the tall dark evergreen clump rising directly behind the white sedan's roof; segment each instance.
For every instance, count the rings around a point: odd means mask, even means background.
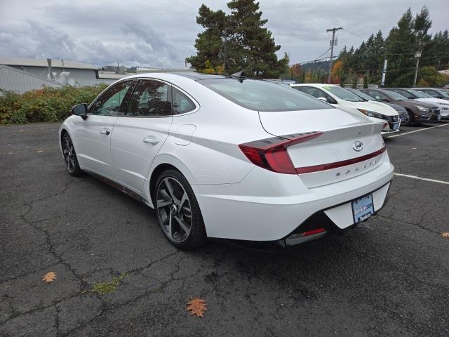
[[[274,43],[272,32],[264,25],[259,3],[254,0],[232,0],[227,3],[231,14],[211,11],[207,6],[199,8],[196,22],[205,30],[198,34],[196,55],[187,58],[192,66],[201,71],[206,60],[216,67],[224,64],[224,44],[227,34],[227,73],[245,70],[247,76],[278,78],[287,73],[288,55],[278,59],[276,52],[281,46]]]

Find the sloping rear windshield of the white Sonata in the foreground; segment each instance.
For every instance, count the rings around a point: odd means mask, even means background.
[[[282,83],[245,79],[202,79],[198,83],[232,102],[257,111],[295,111],[333,109],[301,91]]]

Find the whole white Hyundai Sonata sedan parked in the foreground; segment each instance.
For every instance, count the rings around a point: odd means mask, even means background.
[[[318,239],[377,213],[393,178],[382,123],[273,81],[139,74],[72,112],[59,131],[69,173],[154,208],[181,249]]]

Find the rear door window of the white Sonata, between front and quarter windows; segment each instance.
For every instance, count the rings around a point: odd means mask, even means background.
[[[142,79],[135,87],[127,116],[160,117],[171,115],[170,87],[159,81]]]

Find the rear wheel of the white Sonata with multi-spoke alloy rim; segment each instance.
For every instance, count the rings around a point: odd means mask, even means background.
[[[195,249],[207,242],[198,201],[179,171],[163,171],[154,190],[154,210],[168,241],[178,249]]]

